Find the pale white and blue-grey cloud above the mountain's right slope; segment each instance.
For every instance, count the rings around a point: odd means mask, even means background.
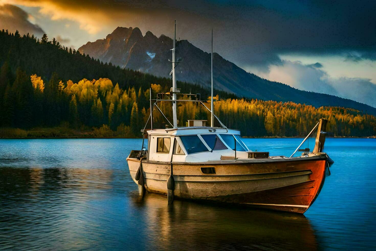
[[[258,74],[299,90],[331,94],[376,107],[376,85],[371,79],[332,78],[321,66],[318,62],[305,65],[300,61],[284,60],[280,65],[271,65],[269,72]]]

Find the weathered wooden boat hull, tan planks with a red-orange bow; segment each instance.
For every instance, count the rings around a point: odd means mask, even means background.
[[[135,158],[127,161],[130,175],[138,183],[135,176],[140,161]],[[320,155],[263,161],[172,163],[173,194],[180,198],[304,213],[323,186],[326,161],[326,155]],[[147,191],[167,194],[171,163],[143,160],[142,171]]]

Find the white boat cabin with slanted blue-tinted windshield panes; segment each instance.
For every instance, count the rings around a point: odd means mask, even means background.
[[[248,158],[248,152],[252,152],[238,130],[193,126],[147,133],[149,161],[205,162],[221,160],[223,156],[234,158],[235,142],[237,158]]]

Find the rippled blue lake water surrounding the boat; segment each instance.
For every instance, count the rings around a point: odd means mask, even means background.
[[[245,139],[250,149],[288,156],[301,140]],[[141,142],[0,139],[0,249],[376,248],[376,139],[326,139],[335,163],[304,216],[140,199],[126,157]]]

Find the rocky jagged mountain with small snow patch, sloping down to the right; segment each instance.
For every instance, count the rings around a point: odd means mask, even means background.
[[[105,39],[88,42],[78,50],[103,62],[130,68],[152,75],[169,77],[173,40],[165,35],[159,38],[148,31],[143,36],[139,28],[117,27]],[[176,68],[176,77],[180,81],[211,85],[211,54],[195,47],[187,40],[176,43],[177,58],[183,62]],[[213,78],[215,88],[241,97],[293,101],[319,106],[344,106],[370,112],[375,108],[337,96],[302,91],[279,82],[262,79],[224,59],[218,53],[213,54]]]

